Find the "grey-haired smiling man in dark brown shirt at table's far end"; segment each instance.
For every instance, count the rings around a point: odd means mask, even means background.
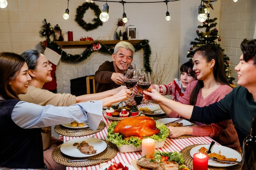
[[[120,41],[112,54],[112,62],[106,61],[95,72],[96,92],[103,92],[124,85],[124,65],[131,63],[135,49],[132,44]]]

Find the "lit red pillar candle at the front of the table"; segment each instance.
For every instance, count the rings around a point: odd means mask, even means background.
[[[208,170],[209,156],[204,153],[195,153],[193,155],[193,170]]]

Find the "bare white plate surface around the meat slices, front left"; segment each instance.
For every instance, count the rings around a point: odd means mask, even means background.
[[[73,146],[74,143],[81,143],[82,141],[86,141],[89,145],[94,146],[94,149],[97,150],[97,152],[92,155],[86,155],[81,153],[80,150],[77,149],[77,146]],[[106,148],[106,142],[101,139],[94,137],[81,137],[66,141],[64,144],[61,145],[61,152],[70,157],[83,158],[98,155],[99,153],[103,152]]]

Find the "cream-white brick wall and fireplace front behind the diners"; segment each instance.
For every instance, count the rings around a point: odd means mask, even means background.
[[[148,0],[139,0],[148,2]],[[153,1],[153,0],[151,0]],[[150,2],[151,2],[150,1]],[[218,0],[213,3],[214,10],[211,9],[211,18],[217,17],[217,29],[220,31],[223,48],[227,55],[231,57],[231,70],[240,56],[239,45],[243,38],[252,38],[255,28],[256,7],[255,0]],[[81,36],[115,38],[117,29],[117,19],[122,17],[123,6],[121,3],[108,2],[110,7],[108,22],[103,23],[92,31],[84,31],[74,21],[76,8],[83,4],[84,0],[70,0],[69,10],[70,18],[63,19],[63,13],[67,8],[67,0],[8,0],[6,9],[0,9],[0,51],[12,51],[22,53],[28,49],[39,49],[40,41],[45,37],[40,36],[40,29],[43,26],[43,20],[46,18],[52,27],[58,24],[63,33],[73,31],[74,40],[79,40]],[[126,0],[126,2],[134,2]],[[173,64],[169,77],[163,83],[172,81],[179,76],[179,67],[186,62],[187,50],[190,48],[190,42],[194,40],[197,26],[200,22],[197,20],[198,6],[201,0],[180,0],[168,2],[168,11],[171,20],[165,20],[167,11],[165,2],[162,3],[126,3],[125,13],[128,17],[128,25],[135,25],[137,28],[137,39],[150,40],[152,49],[151,61],[155,54],[162,51],[162,63],[168,57],[172,56]],[[95,2],[101,9],[105,2]],[[94,13],[91,9],[86,11],[84,19],[90,21]],[[66,51],[66,50],[65,50]],[[80,52],[83,50],[80,50]],[[78,54],[78,51],[71,50],[70,53]],[[103,58],[103,59],[102,59]],[[139,60],[142,53],[138,54]],[[97,67],[108,59],[108,56],[95,55],[90,56],[86,61],[77,63],[58,64],[57,81],[58,92],[70,92],[70,79],[91,75],[97,70]],[[111,60],[109,58],[108,60]],[[141,61],[137,65],[140,65]],[[80,65],[80,66],[78,66]],[[68,75],[68,76],[67,76]],[[236,77],[236,75],[232,75]]]

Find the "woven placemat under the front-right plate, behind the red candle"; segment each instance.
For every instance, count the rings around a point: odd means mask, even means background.
[[[201,144],[200,144],[201,145]],[[182,157],[184,159],[184,164],[189,168],[193,169],[193,158],[190,155],[190,150],[194,148],[195,146],[198,145],[191,145],[188,146],[184,149],[182,149],[180,152],[182,153]],[[239,152],[241,155],[241,152]],[[213,166],[208,166],[208,170],[242,170],[242,164],[238,163],[234,166],[229,166],[229,167],[213,167]]]

